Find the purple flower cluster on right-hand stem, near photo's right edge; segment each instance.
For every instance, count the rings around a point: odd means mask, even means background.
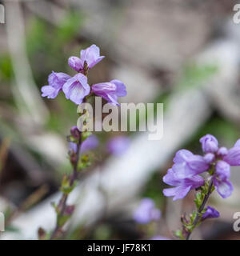
[[[178,150],[174,157],[174,166],[163,177],[163,181],[174,188],[163,190],[166,197],[174,200],[184,198],[193,189],[205,184],[199,174],[208,172],[214,187],[222,198],[232,194],[233,186],[229,180],[230,166],[240,166],[240,139],[234,147],[218,147],[218,140],[207,134],[200,139],[204,156],[192,154],[189,150]]]

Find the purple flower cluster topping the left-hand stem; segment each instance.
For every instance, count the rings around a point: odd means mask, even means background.
[[[71,68],[78,74],[74,77],[65,73],[52,72],[48,78],[48,85],[42,86],[42,97],[56,98],[60,91],[63,91],[67,99],[75,104],[81,104],[89,94],[98,95],[107,102],[118,104],[118,97],[126,96],[126,86],[119,80],[101,82],[90,86],[86,74],[88,70],[102,61],[98,46],[92,45],[86,50],[81,50],[80,58],[72,56],[68,60]]]

